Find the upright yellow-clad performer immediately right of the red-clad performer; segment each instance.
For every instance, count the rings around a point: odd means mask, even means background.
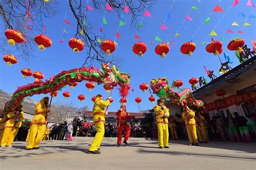
[[[169,132],[168,132],[168,117],[169,109],[163,104],[161,99],[157,100],[157,105],[154,107],[156,113],[156,123],[158,132],[158,146],[169,148]]]

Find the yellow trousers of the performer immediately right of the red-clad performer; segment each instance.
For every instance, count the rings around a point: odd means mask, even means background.
[[[157,123],[158,132],[158,146],[168,147],[169,146],[169,132],[167,123]]]

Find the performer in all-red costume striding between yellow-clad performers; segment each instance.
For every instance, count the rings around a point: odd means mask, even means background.
[[[127,119],[134,119],[134,116],[131,116],[126,111],[125,103],[120,107],[120,109],[116,112],[116,116],[118,117],[119,124],[118,124],[118,136],[117,136],[117,147],[121,145],[122,142],[122,133],[125,129],[125,145],[128,145],[127,140],[129,139],[130,132],[131,132],[131,125],[127,123]]]

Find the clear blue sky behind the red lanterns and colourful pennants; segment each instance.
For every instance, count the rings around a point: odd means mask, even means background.
[[[74,32],[76,29],[76,22],[73,17],[73,14],[70,9],[67,11],[67,19],[72,23],[72,25],[65,25],[65,29],[68,31],[68,34],[65,35],[64,43],[59,43],[62,37],[62,30],[64,26],[64,17],[66,9],[66,1],[61,0],[62,3],[59,5],[59,12],[56,16],[51,19],[46,20],[46,32],[45,34],[49,36],[53,45],[50,48],[47,48],[45,51],[35,50],[34,58],[31,58],[29,62],[26,62],[22,59],[22,56],[15,53],[13,47],[10,47],[13,50],[13,54],[18,58],[18,63],[8,67],[6,63],[2,60],[0,62],[0,89],[13,93],[17,86],[22,86],[27,83],[32,83],[34,81],[33,77],[24,79],[20,70],[23,68],[30,68],[32,71],[41,71],[43,72],[45,79],[48,79],[52,75],[56,75],[62,70],[69,70],[72,68],[81,67],[84,62],[84,58],[88,49],[84,49],[80,53],[74,53],[68,46],[68,40],[74,37]],[[160,77],[167,77],[169,82],[172,80],[180,79],[183,81],[183,88],[190,87],[188,80],[191,77],[200,77],[204,76],[208,81],[208,77],[205,73],[203,66],[207,66],[210,70],[214,70],[215,74],[218,75],[219,60],[213,54],[207,53],[205,51],[205,46],[201,44],[202,41],[211,41],[209,36],[206,40],[205,38],[210,34],[213,28],[218,23],[219,19],[226,13],[233,0],[201,0],[201,3],[198,0],[176,0],[171,8],[171,19],[166,19],[165,25],[169,27],[167,30],[161,30],[158,36],[162,39],[163,42],[173,41],[174,45],[170,46],[171,50],[167,54],[165,59],[161,59],[160,56],[155,54],[155,46],[159,43],[155,41],[153,45],[150,44],[155,39],[157,32],[165,19],[167,13],[169,12],[172,0],[159,0],[153,4],[152,8],[148,11],[153,16],[144,17],[142,23],[144,26],[138,32],[138,35],[142,37],[140,40],[144,41],[148,49],[143,57],[139,57],[132,52],[132,42],[133,37],[136,33],[136,29],[130,27],[131,14],[124,14],[123,21],[127,22],[125,26],[120,27],[119,34],[122,38],[117,38],[118,47],[112,55],[123,58],[123,62],[120,64],[120,71],[127,72],[131,75],[131,85],[134,88],[134,92],[130,91],[128,96],[127,107],[130,112],[138,112],[139,107],[137,103],[134,102],[136,97],[142,98],[142,103],[140,104],[140,109],[149,109],[154,106],[148,101],[150,97],[149,92],[143,93],[139,89],[139,85],[143,82],[150,84],[151,79],[156,79]],[[248,19],[248,16],[252,13],[253,7],[246,6],[247,0],[240,0],[239,4],[234,7],[231,7],[230,10],[226,13],[225,19],[226,23],[220,23],[217,25],[214,30],[217,33],[217,36],[214,36],[216,40],[220,40],[223,43],[223,49],[233,60],[231,67],[235,67],[239,64],[234,51],[229,51],[227,49],[227,44],[229,40],[233,39],[235,36],[239,36],[245,39],[245,43],[252,48],[250,39],[256,39],[255,35],[255,21],[256,18]],[[252,0],[256,5],[256,1]],[[51,2],[47,2],[51,3]],[[198,33],[194,36],[193,41],[196,43],[197,48],[192,57],[188,57],[180,52],[180,47],[186,41],[190,41],[192,35],[198,30],[203,21],[209,16],[213,11],[216,5],[219,5],[224,10],[223,13],[214,12],[210,16],[209,24],[203,24]],[[93,6],[91,0],[89,0],[89,5]],[[191,6],[197,6],[198,10],[192,10]],[[238,16],[242,12],[246,17]],[[89,32],[99,33],[101,26],[102,18],[104,11],[88,11],[87,18],[91,24],[91,30]],[[183,20],[186,15],[189,15],[193,21],[186,20],[183,24]],[[252,13],[256,15],[256,10]],[[114,39],[117,31],[117,27],[120,19],[116,17],[115,12],[106,12],[105,18],[108,24],[103,25],[102,35],[106,39]],[[140,20],[141,17],[139,17]],[[248,19],[248,20],[247,20]],[[247,20],[251,24],[250,27],[244,27],[243,24]],[[240,26],[231,26],[232,22],[236,21]],[[175,33],[181,26],[184,26],[186,29],[180,29],[179,33],[181,36],[174,37]],[[234,33],[226,33],[227,29],[231,29]],[[238,31],[241,30],[244,34],[238,34]],[[3,28],[0,30],[1,34],[4,34]],[[31,36],[38,34],[37,32],[31,32]],[[221,40],[222,36],[225,37],[226,41]],[[5,55],[5,54],[2,54]],[[109,56],[105,56],[109,57]],[[221,58],[224,61],[224,55],[221,54]],[[95,67],[100,67],[99,64],[95,64]],[[53,102],[59,101],[60,103],[73,102],[74,106],[82,107],[88,105],[90,109],[93,107],[93,102],[91,102],[91,97],[100,93],[105,98],[109,96],[109,93],[106,93],[103,89],[103,85],[96,86],[93,91],[89,91],[85,88],[86,82],[81,82],[74,89],[70,89],[68,86],[63,88],[62,91],[59,91],[58,96],[53,100]],[[69,91],[71,97],[64,99],[62,96],[63,91]],[[84,94],[86,100],[81,103],[77,96]],[[35,100],[40,100],[44,95],[35,95],[32,98]],[[49,95],[48,95],[49,96]],[[110,106],[110,111],[116,111],[119,108],[120,99],[118,95],[118,90],[115,89],[113,92],[114,103]]]

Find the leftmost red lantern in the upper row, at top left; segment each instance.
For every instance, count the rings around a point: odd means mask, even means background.
[[[24,42],[24,37],[22,35],[22,33],[16,31],[16,30],[12,30],[12,29],[8,29],[5,30],[4,32],[6,38],[8,38],[8,44],[14,46],[15,43],[23,43]]]

